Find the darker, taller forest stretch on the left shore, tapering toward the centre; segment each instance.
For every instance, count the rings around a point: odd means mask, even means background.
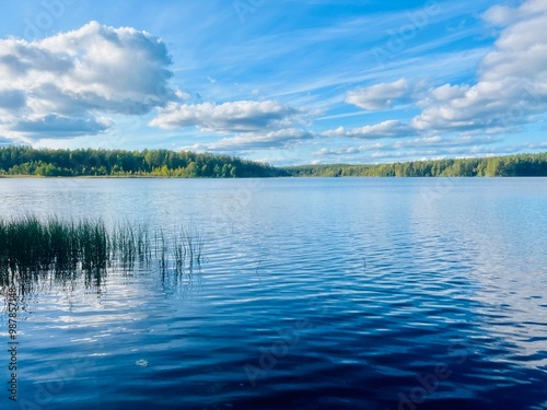
[[[272,166],[233,156],[168,150],[36,150],[0,148],[0,176],[158,176],[243,178],[287,176]]]

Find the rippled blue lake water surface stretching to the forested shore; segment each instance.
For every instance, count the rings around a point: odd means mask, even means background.
[[[206,257],[42,283],[0,407],[545,410],[546,206],[547,178],[0,179],[3,216],[191,226]]]

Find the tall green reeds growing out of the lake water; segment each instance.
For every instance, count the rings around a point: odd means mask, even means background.
[[[163,274],[182,272],[201,263],[201,238],[189,231],[167,236],[155,232],[155,254]],[[36,279],[54,274],[73,280],[84,273],[85,283],[100,285],[109,268],[132,271],[137,261],[150,266],[150,230],[129,222],[113,229],[101,219],[61,220],[36,215],[0,219],[0,286],[13,282],[32,285]]]

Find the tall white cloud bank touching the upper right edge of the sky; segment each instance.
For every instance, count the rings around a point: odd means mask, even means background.
[[[501,132],[542,118],[547,110],[547,2],[486,14],[503,25],[494,49],[482,59],[476,84],[444,84],[419,102],[418,130]]]

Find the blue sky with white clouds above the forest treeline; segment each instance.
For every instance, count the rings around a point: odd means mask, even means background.
[[[0,145],[547,151],[547,1],[0,0]]]

